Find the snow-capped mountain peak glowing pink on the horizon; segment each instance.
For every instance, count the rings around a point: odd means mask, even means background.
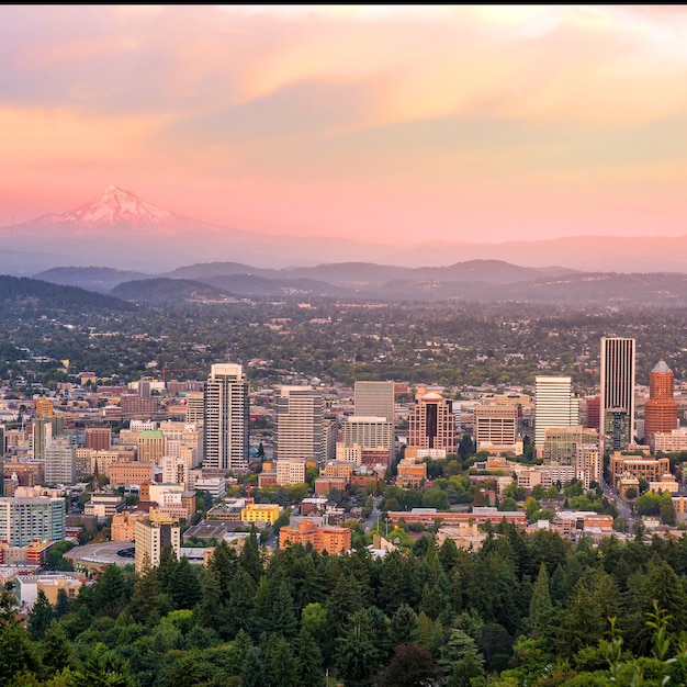
[[[190,219],[142,201],[129,191],[110,185],[104,193],[85,205],[61,214],[46,214],[15,226],[21,232],[64,229],[70,235],[98,234],[102,229],[134,229],[158,235],[185,234],[191,227],[209,228],[203,222]],[[216,227],[215,227],[216,228]]]

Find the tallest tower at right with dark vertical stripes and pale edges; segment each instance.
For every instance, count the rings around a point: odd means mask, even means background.
[[[634,441],[635,340],[601,338],[601,447],[608,453]]]

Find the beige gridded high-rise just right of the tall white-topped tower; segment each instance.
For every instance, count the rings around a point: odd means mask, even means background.
[[[277,460],[325,461],[324,398],[311,386],[282,386],[275,399]]]

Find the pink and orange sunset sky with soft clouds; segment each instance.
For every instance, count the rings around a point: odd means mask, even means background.
[[[110,184],[263,234],[687,234],[687,10],[0,7],[0,226]]]

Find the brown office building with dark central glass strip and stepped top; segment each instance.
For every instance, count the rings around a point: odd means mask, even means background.
[[[415,410],[408,417],[408,446],[418,449],[443,449],[455,453],[455,416],[451,401],[418,385]]]

